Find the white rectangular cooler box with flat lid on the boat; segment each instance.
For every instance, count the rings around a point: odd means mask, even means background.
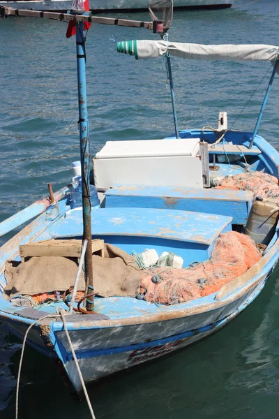
[[[202,188],[199,138],[108,141],[93,159],[95,186],[113,184]]]

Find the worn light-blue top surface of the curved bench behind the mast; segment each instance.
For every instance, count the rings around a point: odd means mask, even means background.
[[[92,235],[156,237],[207,245],[211,245],[231,221],[229,216],[153,208],[103,208],[91,213]],[[58,226],[56,237],[81,233],[81,211],[70,210]]]

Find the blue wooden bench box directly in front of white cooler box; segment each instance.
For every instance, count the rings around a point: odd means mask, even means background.
[[[120,186],[105,192],[105,207],[146,207],[232,216],[234,224],[246,224],[252,193],[218,189]]]

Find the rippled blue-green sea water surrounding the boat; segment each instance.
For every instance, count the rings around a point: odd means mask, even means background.
[[[235,6],[244,1],[236,1]],[[247,1],[248,3],[248,1]],[[120,15],[119,15],[120,17]],[[123,15],[127,17],[127,15]],[[177,12],[170,40],[278,45],[279,4],[262,0],[236,10]],[[147,13],[133,18],[147,20]],[[0,20],[0,221],[68,183],[79,158],[75,42],[61,22]],[[94,25],[87,39],[92,153],[113,139],[163,138],[172,110],[163,61],[116,53],[117,41],[153,38],[145,29]],[[234,128],[252,129],[271,69],[266,63],[172,59],[179,127],[216,126],[226,110]],[[268,75],[258,87],[262,78]],[[258,87],[258,88],[257,88]],[[278,145],[278,78],[259,130]],[[277,101],[276,101],[277,99]],[[278,274],[225,329],[176,355],[94,385],[100,418],[278,418]],[[0,325],[0,417],[13,418],[20,343]],[[52,362],[27,348],[20,417],[89,418],[70,399]]]

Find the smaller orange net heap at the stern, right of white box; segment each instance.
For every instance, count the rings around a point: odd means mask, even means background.
[[[214,178],[213,184],[215,189],[251,191],[254,197],[279,197],[278,179],[264,172],[246,172],[239,175]]]

